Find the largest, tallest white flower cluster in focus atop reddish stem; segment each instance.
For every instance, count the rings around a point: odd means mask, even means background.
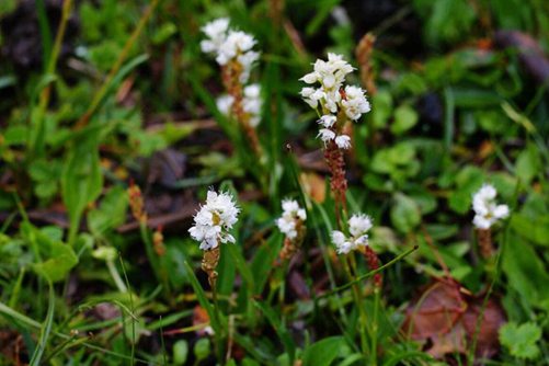
[[[357,121],[364,113],[370,111],[364,90],[354,85],[343,87],[345,77],[353,70],[354,68],[343,59],[343,56],[328,54],[328,61],[318,59],[313,71],[299,79],[308,84],[320,83],[319,88],[301,89],[301,96],[310,107],[314,110],[320,107],[322,116],[319,124],[322,128],[318,137],[324,145],[333,140],[340,149],[351,148],[351,138],[339,134],[335,126],[339,113],[343,112],[347,118]]]

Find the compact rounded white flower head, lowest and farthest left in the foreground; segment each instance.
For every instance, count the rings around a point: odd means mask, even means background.
[[[191,237],[201,242],[202,250],[211,250],[227,242],[235,242],[229,230],[237,222],[240,209],[228,193],[208,191],[206,204],[194,217],[195,226],[188,229]]]

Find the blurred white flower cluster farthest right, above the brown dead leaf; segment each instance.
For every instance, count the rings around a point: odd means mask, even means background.
[[[492,185],[484,184],[472,196],[472,209],[476,214],[472,224],[477,228],[490,229],[497,220],[508,216],[508,206],[497,205],[495,203],[496,195],[497,191]]]

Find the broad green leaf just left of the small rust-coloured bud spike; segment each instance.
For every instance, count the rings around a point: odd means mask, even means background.
[[[88,214],[90,231],[101,237],[106,231],[115,229],[126,220],[128,198],[122,186],[115,186],[104,196],[99,208]]]

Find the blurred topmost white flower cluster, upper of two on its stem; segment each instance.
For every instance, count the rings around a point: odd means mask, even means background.
[[[231,60],[238,61],[242,67],[240,82],[248,82],[253,62],[260,58],[260,54],[252,49],[256,44],[255,38],[242,31],[229,28],[227,18],[207,23],[202,31],[208,36],[208,39],[201,42],[202,50],[214,55],[220,66]]]

